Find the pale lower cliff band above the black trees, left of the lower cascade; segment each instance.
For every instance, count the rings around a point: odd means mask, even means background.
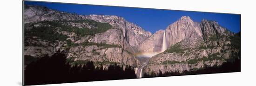
[[[116,62],[118,65],[130,65],[132,67],[140,67],[140,61],[134,55],[122,48],[104,48],[94,46],[77,46],[72,47],[68,51],[68,57],[75,57],[75,61],[94,61],[97,66],[110,65]]]

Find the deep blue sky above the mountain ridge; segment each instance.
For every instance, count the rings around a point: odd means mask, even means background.
[[[227,13],[210,13],[210,12],[191,12],[176,10],[160,10],[147,8],[131,8],[117,6],[94,6],[81,4],[64,4],[49,2],[31,2],[25,1],[25,5],[39,5],[48,8],[71,12],[77,14],[101,14],[116,15],[125,18],[127,21],[141,26],[144,30],[155,33],[160,29],[165,30],[166,27],[182,16],[189,16],[194,22],[201,22],[202,19],[215,20],[223,27],[235,33],[240,31],[240,15]]]

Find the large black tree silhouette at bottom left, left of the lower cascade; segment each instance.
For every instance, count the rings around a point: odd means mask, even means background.
[[[93,61],[71,66],[66,60],[65,54],[56,53],[51,57],[44,56],[31,62],[25,69],[25,85],[136,78],[134,68],[131,66],[126,66],[123,70],[122,66],[115,63],[108,69],[103,69],[102,66],[94,67]]]

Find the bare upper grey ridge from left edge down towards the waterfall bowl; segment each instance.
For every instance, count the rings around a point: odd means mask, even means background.
[[[149,31],[143,30],[140,26],[126,21],[115,15],[77,15],[74,13],[59,12],[43,6],[26,5],[24,10],[25,23],[40,21],[65,21],[91,19],[101,23],[109,23],[115,29],[120,29],[128,44],[137,46],[141,41],[150,37]]]

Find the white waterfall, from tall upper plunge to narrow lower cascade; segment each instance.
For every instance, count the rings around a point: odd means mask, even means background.
[[[154,55],[157,55],[157,54],[159,54],[159,53],[162,53],[162,52],[164,52],[166,49],[167,49],[167,45],[166,45],[166,38],[165,38],[165,31],[164,31],[164,33],[163,33],[163,38],[162,38],[163,40],[162,40],[162,49],[161,49],[161,51],[160,52],[153,52],[153,53],[143,53],[143,55],[142,56],[145,56],[145,57],[152,57],[152,56],[154,56]],[[149,59],[148,59],[149,60]],[[142,65],[142,67],[141,67],[141,69],[140,69],[140,71],[139,71],[139,78],[141,78],[142,77],[142,70],[143,70],[143,68],[145,67],[147,65],[147,63],[143,63],[143,65]]]

